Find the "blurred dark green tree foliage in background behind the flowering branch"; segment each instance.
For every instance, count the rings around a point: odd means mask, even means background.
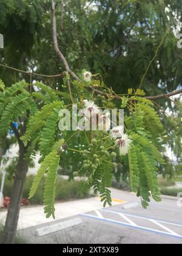
[[[101,73],[107,87],[112,87],[118,94],[127,93],[128,88],[139,87],[150,60],[158,53],[141,86],[149,95],[173,91],[181,85],[181,50],[176,46],[174,34],[181,22],[180,4],[181,0],[56,1],[59,47],[70,69],[76,74],[80,74],[83,68],[93,74]],[[5,85],[12,85],[20,79],[30,84],[33,79],[44,80],[50,87],[56,90],[59,88],[60,99],[70,101],[70,94],[61,75],[44,77],[30,74],[30,70],[47,75],[60,74],[65,70],[53,47],[52,2],[37,0],[30,4],[22,0],[0,0],[0,5],[0,32],[5,37],[1,63],[27,71],[10,71],[1,66],[1,78]],[[164,41],[159,48],[162,38]],[[117,104],[120,107],[121,102]],[[169,119],[165,113],[166,108],[181,113],[179,107],[174,108],[173,104],[164,98],[160,106],[157,103],[157,110],[163,117],[166,131],[168,127],[174,129],[166,137],[166,143],[180,160],[181,145],[177,143],[181,140],[181,126],[178,123],[180,117],[174,115]],[[24,120],[22,131],[25,130],[25,123]],[[176,135],[178,139],[174,140]],[[62,161],[61,165],[64,168],[74,166],[76,171],[79,158],[76,162],[73,152],[69,154],[70,160],[66,164]],[[24,179],[25,172],[21,174]],[[15,202],[19,202],[20,198],[21,193]],[[18,220],[17,205],[15,209],[17,218],[13,224],[12,237]]]

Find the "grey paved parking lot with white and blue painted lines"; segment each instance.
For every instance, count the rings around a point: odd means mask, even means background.
[[[19,234],[29,243],[182,244],[182,209],[176,201],[152,202],[144,210],[134,194],[118,191],[115,197],[122,203],[19,230]]]

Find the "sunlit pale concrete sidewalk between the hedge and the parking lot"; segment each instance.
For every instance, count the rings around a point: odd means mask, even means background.
[[[121,202],[121,200],[113,199],[113,205],[121,204]],[[88,199],[56,203],[55,208],[55,220],[53,218],[45,218],[44,207],[42,205],[21,208],[18,221],[18,230],[46,224],[53,221],[59,221],[61,219],[70,218],[75,215],[98,210],[103,208],[103,203],[99,201],[98,197],[92,197]],[[7,211],[0,212],[1,224],[4,224],[6,215]]]

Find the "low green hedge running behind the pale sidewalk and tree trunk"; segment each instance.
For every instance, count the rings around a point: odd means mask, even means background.
[[[30,187],[32,186],[34,176],[27,177],[23,190],[23,197],[28,198]],[[1,182],[1,178],[0,178]],[[76,180],[64,180],[58,178],[56,189],[56,201],[69,201],[73,199],[81,199],[90,197],[89,191],[84,194],[79,193],[79,188],[83,185],[83,182]],[[4,187],[4,196],[11,196],[13,186],[13,180],[6,180]],[[30,199],[30,204],[42,204],[43,203],[43,191],[44,191],[44,179],[42,180],[36,195]]]

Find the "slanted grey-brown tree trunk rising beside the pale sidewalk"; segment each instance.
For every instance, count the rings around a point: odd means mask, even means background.
[[[22,190],[29,169],[29,162],[24,160],[26,149],[23,145],[19,147],[19,160],[16,166],[15,180],[13,184],[10,206],[8,207],[2,244],[13,244],[15,242],[16,229],[18,225],[19,209],[22,200]]]

